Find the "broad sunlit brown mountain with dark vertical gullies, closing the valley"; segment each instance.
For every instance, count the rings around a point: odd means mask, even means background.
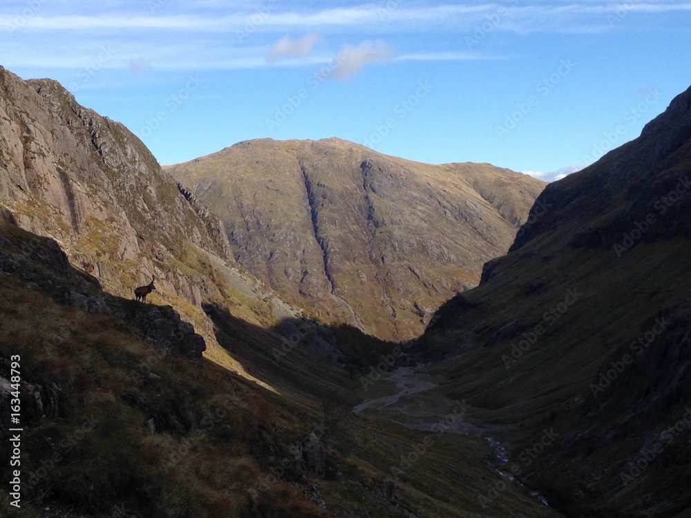
[[[475,285],[545,186],[339,139],[240,142],[165,170],[223,220],[240,265],[296,305],[387,339],[417,336]]]

